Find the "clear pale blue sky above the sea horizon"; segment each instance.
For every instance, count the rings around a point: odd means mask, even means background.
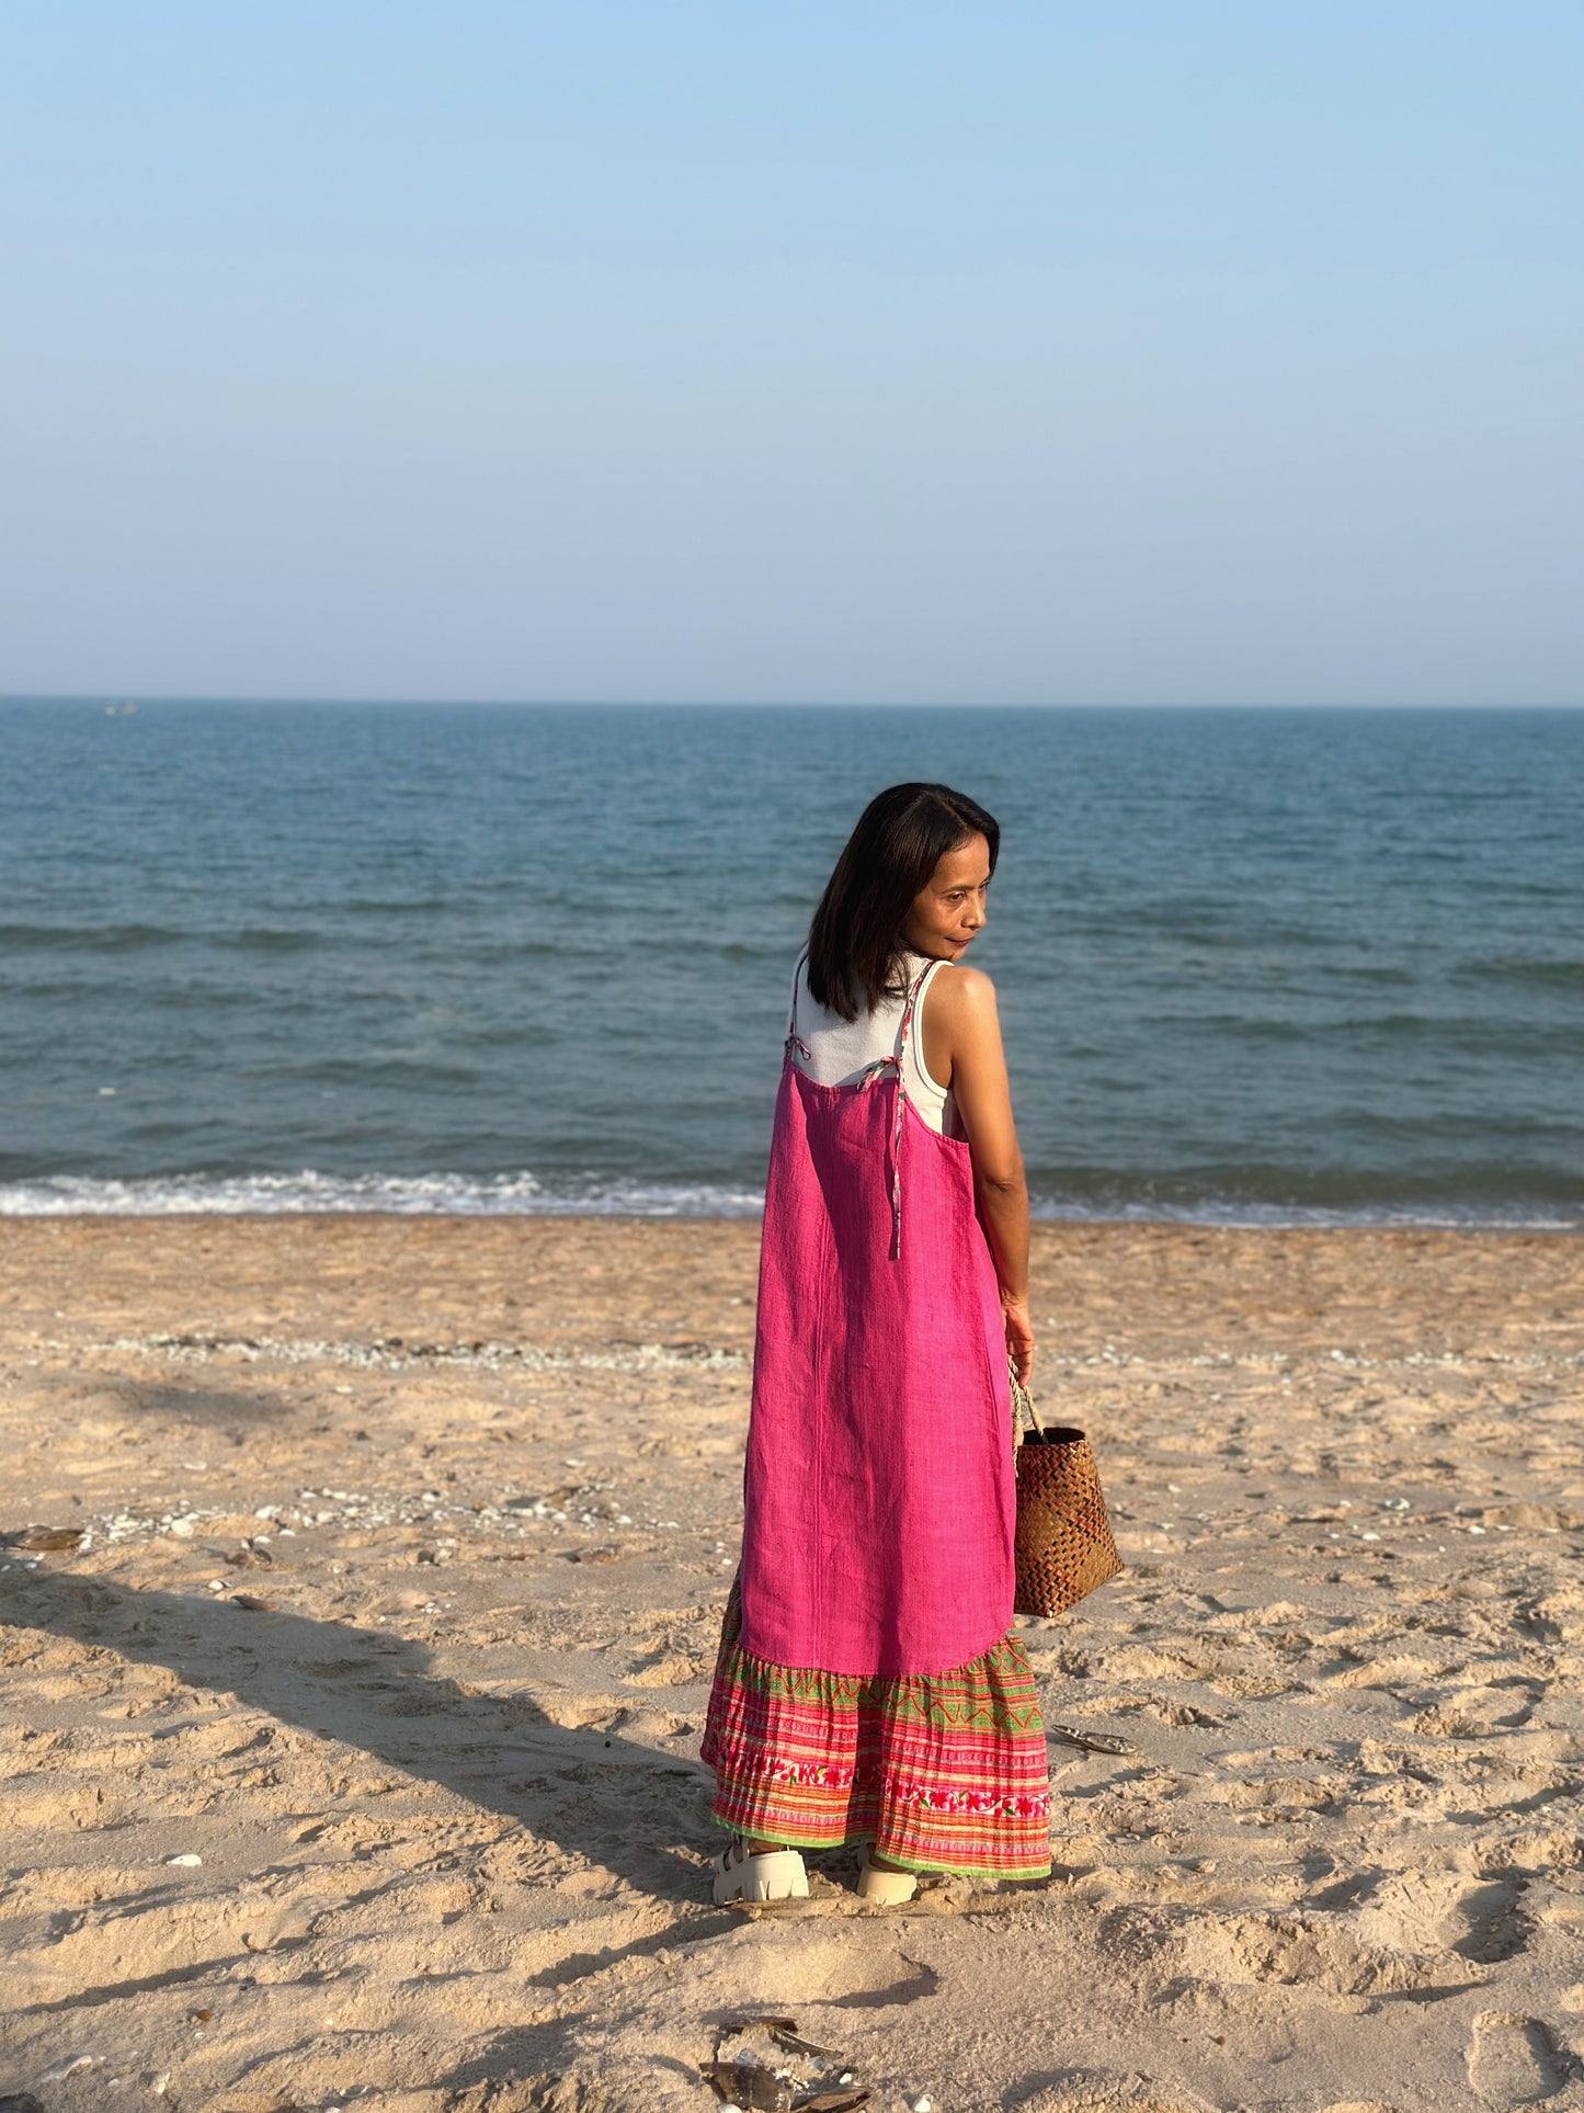
[[[6,0],[0,693],[1584,702],[1578,0]]]

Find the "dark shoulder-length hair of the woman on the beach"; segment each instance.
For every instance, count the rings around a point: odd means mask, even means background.
[[[895,970],[912,898],[946,852],[959,852],[969,837],[984,837],[995,873],[1001,826],[965,792],[906,784],[874,794],[809,925],[815,1004],[855,1021],[860,997],[872,1012],[883,997],[900,995]]]

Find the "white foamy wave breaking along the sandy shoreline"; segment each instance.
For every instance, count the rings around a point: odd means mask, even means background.
[[[600,1175],[543,1181],[501,1175],[146,1175],[103,1179],[49,1175],[0,1183],[0,1217],[733,1217],[765,1209],[762,1190],[720,1181],[623,1181]],[[1504,1232],[1584,1232],[1584,1200],[1533,1198],[1381,1198],[1295,1204],[1255,1196],[1153,1194],[1149,1183],[1086,1183],[1083,1194],[1035,1192],[1033,1217],[1064,1223],[1178,1226],[1381,1226]]]

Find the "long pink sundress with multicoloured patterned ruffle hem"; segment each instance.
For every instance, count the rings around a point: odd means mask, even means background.
[[[1012,1625],[1014,1424],[995,1264],[919,1018],[857,1023],[800,959],[765,1185],[743,1555],[703,1760],[735,1834],[910,1870],[1050,1870],[1045,1735]]]

